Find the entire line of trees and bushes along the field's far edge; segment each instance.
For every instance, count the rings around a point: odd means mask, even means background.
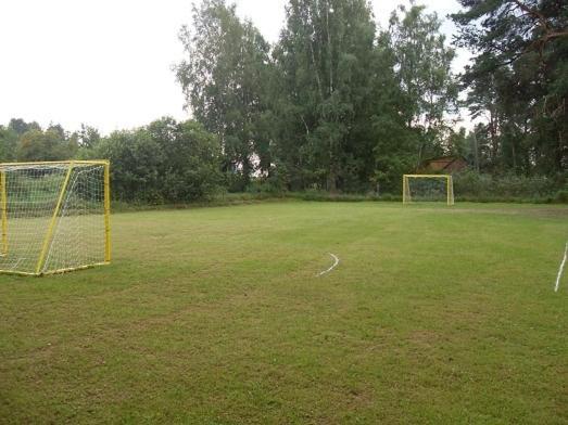
[[[192,120],[101,137],[12,119],[0,126],[0,156],[110,158],[115,194],[142,202],[258,185],[397,193],[401,175],[443,155],[464,157],[468,179],[566,185],[568,5],[460,3],[447,40],[442,20],[414,3],[381,28],[366,0],[288,0],[272,44],[236,5],[202,0],[181,28],[187,59],[175,69]],[[452,72],[456,47],[474,53],[462,75]],[[464,110],[470,131],[456,127]]]

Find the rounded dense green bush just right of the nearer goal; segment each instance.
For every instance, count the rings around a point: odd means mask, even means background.
[[[123,201],[203,199],[223,185],[218,140],[194,121],[163,118],[148,127],[116,131],[88,153],[111,160],[113,192]]]

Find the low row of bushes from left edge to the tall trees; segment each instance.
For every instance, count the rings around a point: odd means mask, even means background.
[[[101,138],[86,126],[70,134],[13,119],[0,126],[0,147],[3,162],[110,159],[113,197],[131,203],[203,201],[227,185],[218,138],[191,120],[162,118]]]

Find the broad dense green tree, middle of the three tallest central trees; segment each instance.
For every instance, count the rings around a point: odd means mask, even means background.
[[[375,24],[365,0],[290,0],[275,60],[278,159],[292,186],[349,189],[366,173]]]

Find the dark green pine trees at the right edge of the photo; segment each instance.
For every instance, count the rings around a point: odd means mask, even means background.
[[[476,52],[463,77],[474,116],[485,114],[495,170],[568,168],[568,4],[460,0],[458,46]]]

